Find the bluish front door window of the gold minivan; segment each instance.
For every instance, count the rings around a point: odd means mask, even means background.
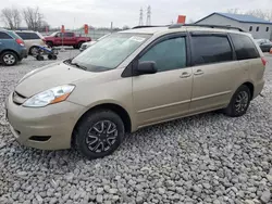
[[[178,37],[157,43],[139,59],[139,62],[144,61],[156,62],[158,72],[186,67],[185,38]]]

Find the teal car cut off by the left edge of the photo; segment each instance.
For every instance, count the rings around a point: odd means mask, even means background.
[[[13,66],[27,58],[25,43],[14,31],[0,30],[0,62],[5,66]]]

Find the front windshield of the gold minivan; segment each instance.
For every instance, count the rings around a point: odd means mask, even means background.
[[[86,71],[102,72],[116,68],[127,56],[139,48],[150,35],[112,34],[77,55],[72,63]]]

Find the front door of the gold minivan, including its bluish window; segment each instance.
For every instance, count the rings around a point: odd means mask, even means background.
[[[163,37],[140,55],[138,62],[156,62],[158,73],[133,77],[138,127],[187,114],[193,75],[187,67],[185,35]]]

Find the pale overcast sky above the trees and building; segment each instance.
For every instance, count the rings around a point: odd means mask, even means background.
[[[146,23],[148,5],[151,7],[151,24],[168,25],[172,21],[175,23],[178,15],[197,21],[230,9],[243,12],[272,9],[272,0],[1,0],[0,9],[39,7],[51,27],[77,28],[84,24],[110,27],[111,22],[114,27],[132,27],[138,25],[140,8]],[[1,21],[0,26],[3,26]]]

